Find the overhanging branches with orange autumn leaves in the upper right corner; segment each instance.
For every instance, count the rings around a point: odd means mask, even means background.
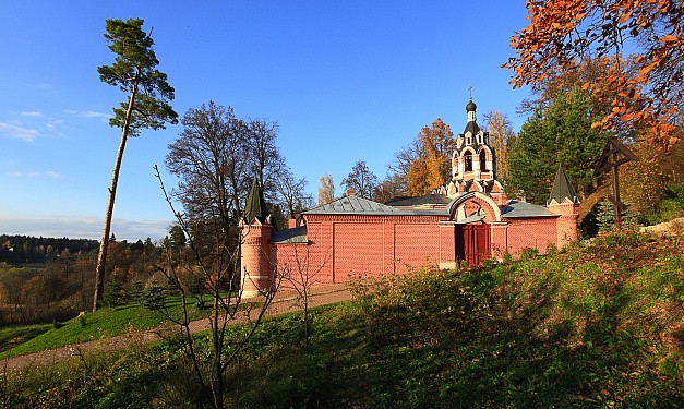
[[[684,7],[680,0],[528,0],[529,25],[511,40],[515,87],[532,88],[588,59],[610,67],[583,88],[609,109],[595,123],[673,145],[682,137]],[[632,52],[634,51],[634,52]],[[625,64],[624,61],[628,63]]]

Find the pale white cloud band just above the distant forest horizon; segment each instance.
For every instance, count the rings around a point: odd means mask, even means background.
[[[111,232],[117,240],[158,241],[168,234],[170,220],[125,220],[115,218],[111,224]],[[103,219],[92,216],[37,216],[37,217],[11,217],[0,216],[0,233],[23,234],[34,237],[68,237],[72,239],[99,240],[103,229]]]

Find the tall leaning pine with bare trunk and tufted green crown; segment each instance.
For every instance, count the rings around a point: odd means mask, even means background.
[[[167,75],[157,70],[159,61],[152,49],[152,33],[143,32],[143,20],[107,20],[105,38],[109,49],[117,55],[113,64],[97,69],[100,81],[118,86],[128,93],[128,100],[113,109],[109,120],[111,127],[121,128],[121,142],[115,160],[105,213],[105,224],[100,240],[95,272],[95,297],[93,310],[97,310],[105,291],[105,268],[109,230],[113,216],[113,205],[119,181],[121,159],[129,136],[137,136],[145,128],[164,129],[167,122],[176,123],[178,115],[170,106],[175,89],[167,82]]]

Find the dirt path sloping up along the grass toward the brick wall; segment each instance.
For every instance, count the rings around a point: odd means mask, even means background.
[[[310,299],[310,306],[319,306],[325,304],[332,304],[335,302],[347,301],[351,299],[351,293],[344,284],[338,285],[325,285],[312,288],[312,296]],[[242,300],[243,302],[245,300]],[[288,312],[301,310],[297,304],[297,293],[292,290],[280,291],[273,300],[266,316],[276,316],[286,314]],[[250,318],[255,318],[256,311],[251,311]],[[235,324],[244,322],[248,320],[247,314],[239,320],[235,321]],[[193,321],[190,323],[191,333],[199,333],[209,328],[208,320]],[[161,339],[160,330],[172,330],[169,327],[157,328],[145,332],[137,332],[133,334],[120,335],[112,338],[98,339],[83,344],[70,345],[57,349],[49,349],[40,352],[34,352],[21,357],[5,359],[0,362],[0,372],[17,371],[28,366],[36,365],[51,365],[58,362],[67,362],[70,360],[80,359],[79,356],[87,356],[92,352],[105,352],[113,351],[117,349],[123,349],[131,345],[147,344]]]

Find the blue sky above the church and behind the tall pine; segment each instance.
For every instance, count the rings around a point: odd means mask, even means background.
[[[383,178],[394,153],[442,117],[465,127],[508,115],[528,89],[500,67],[526,25],[524,1],[3,1],[0,2],[0,233],[99,238],[125,95],[97,67],[113,55],[106,19],[154,26],[180,116],[208,100],[279,125],[296,176],[338,191],[357,160]],[[171,213],[154,177],[180,125],[143,131],[123,157],[112,231],[158,240]],[[176,181],[166,172],[165,183]]]

